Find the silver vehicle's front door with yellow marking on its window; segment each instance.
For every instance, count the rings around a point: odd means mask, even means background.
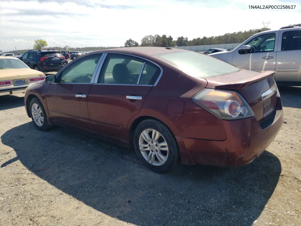
[[[240,53],[237,48],[233,54],[232,64],[251,71],[275,71],[277,37],[276,33],[265,33],[247,41],[243,45],[252,46],[252,51]],[[268,46],[265,45],[267,41]]]

